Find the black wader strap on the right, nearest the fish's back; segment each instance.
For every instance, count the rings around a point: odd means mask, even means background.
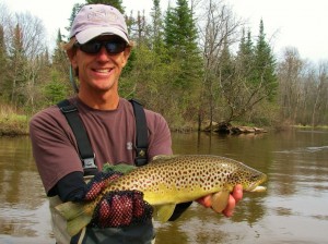
[[[136,99],[131,99],[129,101],[132,103],[136,118],[137,138],[134,163],[139,167],[148,163],[148,127],[142,105],[140,105]]]

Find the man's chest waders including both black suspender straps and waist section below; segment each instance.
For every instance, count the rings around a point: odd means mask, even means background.
[[[134,99],[129,100],[133,107],[136,119],[136,158],[134,164],[141,167],[148,163],[148,127],[143,107]],[[98,172],[95,164],[95,155],[92,149],[87,132],[80,118],[78,108],[70,103],[69,100],[62,100],[57,103],[60,111],[66,117],[72,132],[75,136],[79,155],[84,171],[84,180],[89,181]],[[57,244],[96,244],[103,243],[154,243],[154,231],[152,221],[149,221],[142,227],[127,227],[127,228],[106,228],[94,229],[83,228],[82,231],[74,236],[70,236],[67,231],[66,220],[54,210],[54,207],[62,202],[58,196],[50,197],[50,212],[52,220],[52,230]],[[143,233],[143,234],[140,234]]]

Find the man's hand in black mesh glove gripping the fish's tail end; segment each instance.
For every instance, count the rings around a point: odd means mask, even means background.
[[[104,188],[122,175],[121,172],[109,170],[98,172],[85,186],[83,194],[75,202],[92,202]],[[105,193],[96,203],[91,227],[121,228],[152,219],[153,208],[143,200],[143,193],[138,191],[114,191]]]

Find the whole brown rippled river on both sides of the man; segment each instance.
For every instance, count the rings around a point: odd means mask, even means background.
[[[176,154],[211,154],[268,174],[266,193],[245,193],[225,218],[194,203],[157,223],[156,244],[328,243],[328,131],[219,136],[173,133]],[[54,244],[48,203],[28,137],[0,137],[0,243]]]

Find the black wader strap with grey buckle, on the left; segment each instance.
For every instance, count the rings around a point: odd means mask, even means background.
[[[80,158],[84,170],[84,175],[91,175],[96,173],[97,167],[94,163],[95,155],[92,150],[87,133],[79,115],[77,107],[74,105],[71,105],[67,99],[58,102],[57,106],[66,117],[75,136]]]

